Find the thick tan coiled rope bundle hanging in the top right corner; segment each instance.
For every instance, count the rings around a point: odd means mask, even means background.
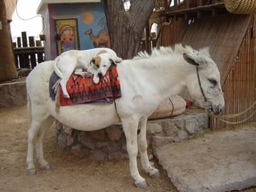
[[[253,14],[256,13],[255,0],[225,0],[225,7],[228,12],[236,14]]]

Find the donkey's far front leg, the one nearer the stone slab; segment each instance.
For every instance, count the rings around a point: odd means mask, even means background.
[[[160,174],[156,168],[153,168],[148,161],[147,154],[147,118],[142,118],[139,123],[138,129],[140,133],[138,134],[138,148],[140,151],[140,160],[143,170],[149,174],[150,177],[159,178]]]

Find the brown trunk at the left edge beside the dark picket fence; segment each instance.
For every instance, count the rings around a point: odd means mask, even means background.
[[[11,36],[8,29],[6,19],[6,7],[4,0],[0,0],[0,21],[2,22],[2,30],[0,29],[0,81],[15,79],[17,70],[12,52]]]

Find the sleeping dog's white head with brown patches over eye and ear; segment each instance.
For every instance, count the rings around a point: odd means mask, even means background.
[[[95,58],[92,58],[90,65],[97,70],[99,77],[105,76],[111,65],[115,64],[107,51],[100,51]]]

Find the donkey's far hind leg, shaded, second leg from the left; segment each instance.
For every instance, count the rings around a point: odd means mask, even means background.
[[[54,119],[50,116],[42,123],[38,134],[38,139],[36,141],[36,159],[38,160],[42,170],[51,170],[50,164],[44,159],[43,140],[45,133],[51,127],[53,120]]]

